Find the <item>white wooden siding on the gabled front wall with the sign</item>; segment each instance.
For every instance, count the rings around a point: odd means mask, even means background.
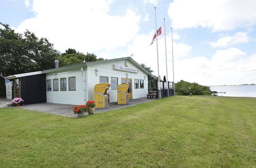
[[[94,86],[99,83],[99,76],[108,76],[109,83],[111,84],[111,77],[118,78],[118,85],[121,84],[121,78],[126,78],[126,73],[128,74],[127,78],[132,79],[132,89],[133,89],[133,99],[146,97],[148,93],[148,82],[147,82],[147,74],[142,72],[137,66],[129,62],[129,67],[139,69],[139,73],[132,73],[120,70],[114,70],[113,65],[120,65],[125,67],[124,63],[127,60],[115,61],[109,63],[101,63],[88,66],[88,99],[94,100]],[[95,75],[95,69],[98,69],[98,75]],[[134,79],[143,79],[144,80],[144,89],[134,89]],[[110,94],[110,102],[117,102],[117,90],[108,90]]]

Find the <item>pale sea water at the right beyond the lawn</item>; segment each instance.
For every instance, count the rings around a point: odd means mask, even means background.
[[[211,86],[210,90],[217,92],[226,92],[218,93],[218,96],[256,97],[256,85]]]

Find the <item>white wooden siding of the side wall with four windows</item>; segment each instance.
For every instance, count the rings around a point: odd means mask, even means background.
[[[86,69],[86,68],[83,68]],[[69,71],[58,71],[56,72],[56,78],[59,80],[59,91],[46,91],[46,97],[48,103],[60,103],[60,104],[84,104],[87,100],[87,88],[86,91],[83,89],[83,76],[79,68],[72,69]],[[86,79],[87,79],[87,73]],[[69,91],[69,77],[76,77],[76,91]],[[67,91],[60,91],[60,78],[67,78]],[[46,79],[52,79],[52,90],[53,90],[53,79],[55,78],[54,73],[47,73]]]

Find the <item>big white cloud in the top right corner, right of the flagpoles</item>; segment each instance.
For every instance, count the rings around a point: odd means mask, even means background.
[[[174,0],[169,4],[168,15],[176,29],[201,26],[226,31],[254,25],[255,6],[255,0]]]

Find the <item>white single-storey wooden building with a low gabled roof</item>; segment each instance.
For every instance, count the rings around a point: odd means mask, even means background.
[[[130,57],[83,62],[34,73],[8,76],[8,79],[15,79],[15,85],[19,85],[19,87],[14,86],[14,96],[18,95],[25,101],[26,98],[31,99],[32,95],[29,96],[26,92],[38,90],[34,87],[38,83],[34,81],[33,77],[26,78],[26,80],[23,78],[34,74],[40,75],[40,79],[45,78],[45,85],[40,86],[40,89],[45,87],[46,92],[40,93],[40,95],[46,93],[46,95],[41,95],[45,96],[46,100],[42,99],[40,102],[74,105],[94,100],[94,86],[105,82],[111,84],[108,90],[110,102],[117,102],[117,86],[121,83],[130,83],[129,98],[146,97],[148,94],[148,79],[155,78]],[[33,83],[34,89],[31,87],[31,90],[28,90],[29,82]],[[23,86],[23,83],[26,83],[26,86]],[[33,101],[33,103],[39,102]],[[30,104],[30,102],[28,101],[27,104]]]

